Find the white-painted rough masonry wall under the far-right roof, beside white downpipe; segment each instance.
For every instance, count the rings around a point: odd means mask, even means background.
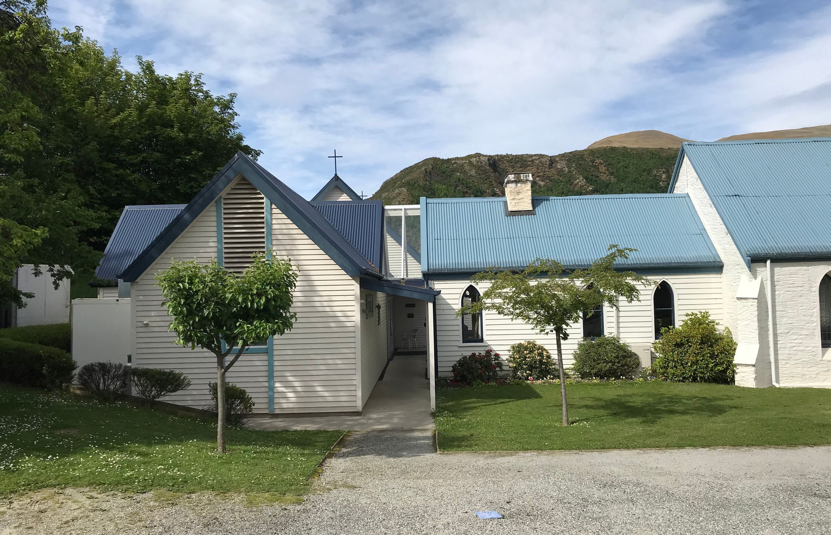
[[[767,279],[765,263],[750,266],[755,277]],[[772,263],[774,295],[774,349],[780,386],[831,388],[831,351],[819,338],[819,281],[831,272],[831,263]],[[764,285],[763,285],[764,288]],[[759,299],[761,338],[767,333],[767,293]],[[762,315],[764,316],[762,317]],[[770,358],[756,365],[757,373],[768,373]],[[770,383],[769,383],[770,384]]]

